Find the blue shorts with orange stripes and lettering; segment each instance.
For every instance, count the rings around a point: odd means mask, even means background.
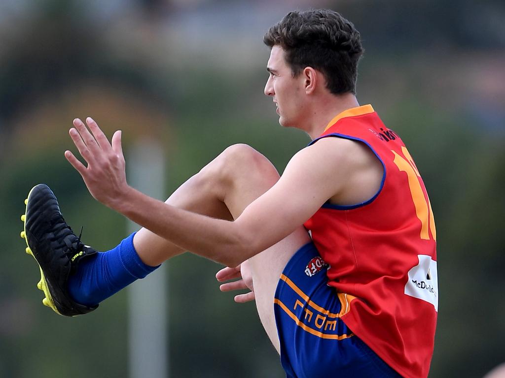
[[[274,313],[288,378],[399,377],[338,317],[341,303],[327,285],[327,266],[313,243],[284,268]]]

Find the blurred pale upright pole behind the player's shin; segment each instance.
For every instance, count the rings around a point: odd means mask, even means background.
[[[128,182],[146,195],[165,200],[164,154],[154,140],[141,140],[128,154]],[[129,222],[130,232],[140,227]],[[168,378],[168,272],[162,265],[129,286],[129,376]]]

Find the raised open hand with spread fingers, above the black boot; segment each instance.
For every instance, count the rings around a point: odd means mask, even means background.
[[[69,134],[87,166],[70,151],[65,151],[65,157],[80,173],[91,196],[114,208],[114,203],[128,188],[121,131],[116,131],[109,143],[92,118],[86,118],[87,127],[79,118],[74,119],[73,124]]]

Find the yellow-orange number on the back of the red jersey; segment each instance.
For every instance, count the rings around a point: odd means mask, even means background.
[[[407,173],[409,178],[409,187],[412,195],[412,200],[414,201],[414,206],[416,208],[416,215],[421,221],[421,239],[429,240],[430,236],[428,233],[428,227],[433,236],[433,240],[437,239],[437,233],[435,230],[435,220],[433,219],[433,211],[431,210],[431,203],[428,196],[428,202],[424,197],[423,188],[421,187],[421,175],[417,170],[416,164],[412,159],[409,151],[405,147],[401,147],[401,152],[403,156],[398,155],[395,151],[391,150],[394,154],[394,164],[402,172]]]

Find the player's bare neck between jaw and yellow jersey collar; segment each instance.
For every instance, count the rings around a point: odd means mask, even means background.
[[[307,133],[312,140],[323,134],[328,126],[328,123],[341,112],[360,106],[356,96],[352,93],[345,93],[342,95],[330,95],[320,99],[313,109],[310,122],[310,130]]]

